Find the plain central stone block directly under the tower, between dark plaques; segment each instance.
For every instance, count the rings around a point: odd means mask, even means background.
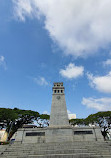
[[[67,127],[48,127],[46,130],[46,143],[73,142],[73,130]]]

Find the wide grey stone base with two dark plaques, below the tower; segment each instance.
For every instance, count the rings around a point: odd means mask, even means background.
[[[104,141],[99,127],[21,128],[13,136],[21,143],[59,143],[75,141]]]

